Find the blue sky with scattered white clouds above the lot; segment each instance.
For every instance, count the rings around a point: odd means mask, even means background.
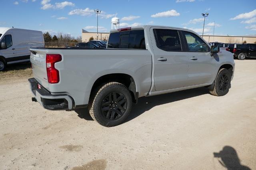
[[[95,9],[99,15],[99,32],[108,32],[111,18],[120,18],[122,27],[166,25],[186,27],[204,35],[256,34],[256,0],[0,0],[0,27],[16,27],[70,33],[76,37],[81,29],[95,32]]]

